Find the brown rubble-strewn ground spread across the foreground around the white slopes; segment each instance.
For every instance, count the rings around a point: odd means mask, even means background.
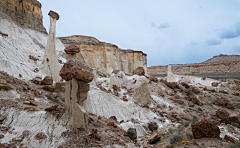
[[[117,72],[119,73],[119,72]],[[142,75],[142,74],[141,74]],[[88,112],[88,132],[76,134],[62,130],[54,147],[239,147],[240,142],[240,81],[212,81],[211,85],[189,81],[167,82],[165,78],[146,77],[151,98],[147,104],[134,102],[134,89],[139,76],[126,76],[121,84],[110,84],[109,78],[100,77],[96,86],[104,93],[122,102],[133,102],[139,108],[154,114],[153,120],[129,118],[119,120]],[[116,83],[115,83],[116,84]],[[0,147],[31,147],[25,143],[29,131],[17,133],[11,127],[14,119],[9,109],[29,113],[45,111],[54,121],[64,118],[64,82],[53,84],[51,77],[21,80],[0,72]],[[111,87],[109,87],[111,86]],[[160,98],[157,100],[155,97]],[[136,124],[146,131],[139,136]],[[162,127],[161,125],[166,124]],[[37,127],[36,127],[37,128]],[[12,135],[14,138],[12,138]],[[9,136],[9,139],[7,136]],[[56,138],[39,132],[32,137],[39,143]],[[3,139],[3,140],[2,140]],[[7,141],[5,139],[8,139]],[[51,143],[51,142],[50,142]],[[47,146],[50,147],[50,146]]]

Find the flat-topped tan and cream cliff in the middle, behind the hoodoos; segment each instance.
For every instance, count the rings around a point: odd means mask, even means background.
[[[65,47],[75,45],[80,49],[77,58],[91,68],[122,70],[132,73],[137,67],[147,70],[147,55],[142,51],[123,50],[116,45],[105,43],[89,36],[70,36],[60,38]]]

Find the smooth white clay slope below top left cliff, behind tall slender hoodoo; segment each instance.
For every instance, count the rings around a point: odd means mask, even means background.
[[[22,27],[1,15],[0,24],[0,31],[8,34],[8,36],[0,35],[0,71],[18,78],[21,74],[24,79],[45,76],[45,73],[39,68],[41,61],[34,62],[29,59],[29,55],[40,60],[43,58],[48,35]],[[60,55],[64,48],[62,42],[56,39],[58,59],[63,62],[65,59]],[[39,72],[35,73],[35,68],[38,68]]]

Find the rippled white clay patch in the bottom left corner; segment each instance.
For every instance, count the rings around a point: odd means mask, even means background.
[[[29,135],[24,137],[22,143],[30,148],[52,148],[64,142],[61,138],[62,132],[66,131],[63,123],[45,111],[27,112],[11,108],[2,109],[0,113],[7,113],[3,125],[11,127],[6,134],[1,133],[4,135],[4,138],[0,139],[1,143],[9,143],[12,138],[19,139],[24,131],[28,131]],[[35,138],[40,132],[46,135],[46,138]]]

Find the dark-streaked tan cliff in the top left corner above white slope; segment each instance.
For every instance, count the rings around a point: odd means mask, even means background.
[[[46,33],[41,7],[37,0],[0,0],[0,11],[21,25]]]

